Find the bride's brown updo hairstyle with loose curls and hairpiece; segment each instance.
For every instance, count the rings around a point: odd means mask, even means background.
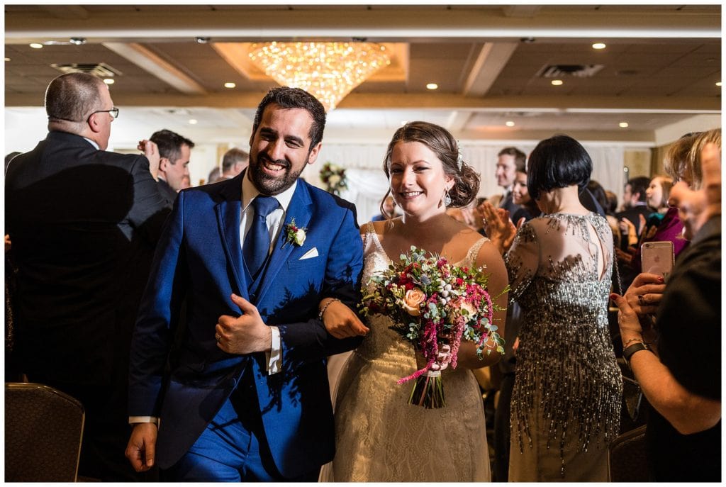
[[[444,165],[444,173],[454,178],[454,186],[449,190],[449,197],[452,199],[448,205],[449,208],[466,206],[476,198],[479,192],[479,173],[462,160],[459,144],[446,128],[435,123],[416,121],[407,123],[396,130],[393,139],[388,144],[386,159],[383,160],[383,172],[386,173],[389,180],[391,179],[389,172],[391,154],[393,147],[399,142],[421,142],[431,149],[436,157],[439,157]],[[388,188],[383,201],[390,193],[391,189]],[[381,202],[381,213],[386,214],[383,212],[383,202]]]

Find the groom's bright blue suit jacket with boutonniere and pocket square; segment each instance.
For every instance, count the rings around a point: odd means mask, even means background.
[[[244,175],[179,193],[136,321],[129,414],[160,417],[156,462],[171,467],[248,369],[277,469],[295,477],[335,452],[326,357],[355,348],[360,339],[329,335],[317,320],[317,305],[334,296],[355,309],[362,240],[354,205],[298,180],[284,224],[295,218],[296,226],[307,228],[306,240],[283,245],[280,232],[251,300],[266,324],[280,328],[282,372],[267,375],[264,353],[221,351],[214,339],[219,316],[241,313],[230,295],[250,298],[240,243]],[[313,247],[319,255],[301,261]]]

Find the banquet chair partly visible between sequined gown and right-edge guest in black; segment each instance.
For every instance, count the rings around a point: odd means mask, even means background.
[[[645,425],[619,435],[608,450],[611,482],[648,482]]]

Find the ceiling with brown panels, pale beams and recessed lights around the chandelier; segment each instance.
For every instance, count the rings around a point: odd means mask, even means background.
[[[72,37],[86,44],[69,44]],[[276,83],[245,75],[221,55],[222,43],[353,38],[399,48],[388,79],[382,70],[330,113],[328,141],[385,141],[404,120],[423,119],[461,139],[567,132],[656,145],[695,123],[720,122],[721,7],[703,2],[6,4],[4,96],[14,110],[6,123],[42,118],[44,89],[59,74],[52,63],[105,63],[121,73],[111,92],[121,108],[114,136],[124,144],[159,128],[244,144],[254,107]],[[607,48],[592,49],[595,41]],[[46,45],[31,49],[30,42]],[[563,75],[563,86],[552,86],[541,75],[547,65],[603,67],[589,78]],[[224,89],[226,81],[237,87]],[[439,89],[428,91],[428,82]],[[621,121],[629,127],[620,128]]]

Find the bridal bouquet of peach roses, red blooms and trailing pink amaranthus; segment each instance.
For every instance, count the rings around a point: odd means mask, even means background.
[[[362,314],[390,316],[395,325],[391,330],[409,340],[423,354],[425,366],[408,377],[404,384],[415,380],[409,404],[427,409],[445,406],[444,387],[436,360],[441,349],[451,351],[451,367],[457,366],[457,351],[461,340],[476,343],[476,353],[492,353],[486,345],[489,338],[498,353],[504,354],[504,340],[492,323],[495,310],[487,289],[489,275],[483,269],[453,266],[446,258],[412,246],[401,254],[401,261],[374,274],[369,284],[372,292],[364,290]],[[502,290],[502,292],[506,292]]]

